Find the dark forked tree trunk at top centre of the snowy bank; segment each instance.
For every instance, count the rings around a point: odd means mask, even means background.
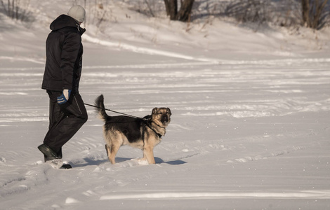
[[[180,2],[181,7],[178,11],[178,0],[164,0],[166,13],[170,16],[171,20],[187,22],[190,20],[194,0],[181,0]]]

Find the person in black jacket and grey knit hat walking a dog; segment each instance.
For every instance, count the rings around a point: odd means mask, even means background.
[[[60,15],[51,23],[46,40],[46,66],[42,89],[50,99],[49,127],[44,144],[38,148],[45,162],[53,167],[71,168],[62,164],[62,146],[87,121],[87,112],[79,94],[83,45],[81,35],[86,29],[85,10],[77,5],[67,15]]]

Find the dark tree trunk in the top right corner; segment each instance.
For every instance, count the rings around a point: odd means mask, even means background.
[[[322,27],[325,16],[324,7],[328,0],[301,0],[303,25],[312,29]]]

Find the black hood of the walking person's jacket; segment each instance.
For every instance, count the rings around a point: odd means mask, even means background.
[[[74,18],[71,18],[68,15],[60,15],[58,18],[56,18],[50,26],[50,29],[52,31],[57,31],[59,29],[65,28],[65,27],[74,27],[77,28],[80,35],[84,34],[86,29],[83,29],[80,27],[79,23],[74,20]]]

